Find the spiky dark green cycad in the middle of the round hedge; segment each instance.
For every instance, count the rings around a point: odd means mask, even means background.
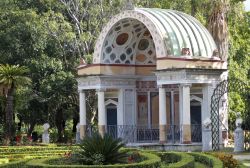
[[[83,139],[79,145],[79,159],[84,164],[114,164],[123,162],[127,157],[126,151],[120,151],[125,144],[121,139],[113,139],[110,135],[94,134]]]

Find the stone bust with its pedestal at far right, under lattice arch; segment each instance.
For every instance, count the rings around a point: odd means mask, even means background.
[[[234,131],[234,152],[243,152],[244,151],[244,131],[241,128],[242,118],[241,114],[236,114],[236,129]]]

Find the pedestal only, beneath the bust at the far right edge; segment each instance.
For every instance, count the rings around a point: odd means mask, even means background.
[[[237,127],[234,131],[234,152],[244,151],[244,131]]]

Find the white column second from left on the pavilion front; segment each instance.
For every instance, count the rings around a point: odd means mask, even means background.
[[[101,136],[106,133],[107,115],[105,110],[104,91],[98,90],[98,130]]]

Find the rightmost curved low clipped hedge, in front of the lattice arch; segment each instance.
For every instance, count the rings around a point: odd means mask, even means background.
[[[208,165],[209,167],[214,167],[214,168],[223,168],[223,162],[211,155],[206,155],[204,153],[196,153],[196,152],[191,152],[189,154],[194,157],[195,161],[200,162],[204,165]]]

